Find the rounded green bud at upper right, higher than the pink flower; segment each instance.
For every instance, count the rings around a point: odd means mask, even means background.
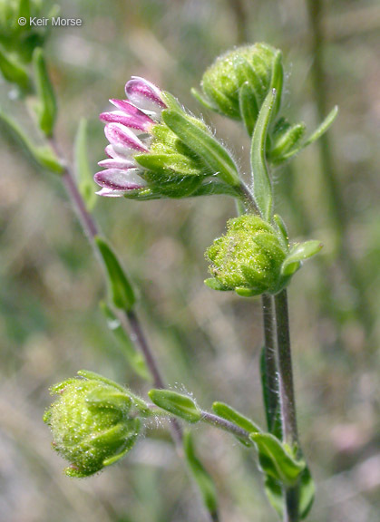
[[[261,105],[272,89],[278,93],[278,112],[282,82],[280,51],[267,43],[255,43],[217,58],[203,74],[203,94],[194,90],[193,94],[212,111],[244,121],[251,134]]]

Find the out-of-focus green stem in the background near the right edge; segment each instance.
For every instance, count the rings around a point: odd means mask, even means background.
[[[317,101],[318,119],[323,120],[326,116],[326,74],[323,66],[323,43],[325,38],[322,25],[322,0],[307,0],[307,9],[311,29],[312,53],[314,55],[314,64],[311,70],[313,89]],[[366,335],[369,336],[373,329],[375,317],[365,295],[365,285],[363,285],[362,276],[359,273],[356,260],[353,258],[348,244],[348,218],[351,216],[351,212],[347,210],[345,201],[341,196],[329,134],[326,133],[321,136],[318,142],[324,186],[331,203],[330,208],[336,228],[336,240],[338,242],[340,259],[342,266],[346,268],[346,274],[351,281],[351,285],[356,290],[356,313],[363,324]]]

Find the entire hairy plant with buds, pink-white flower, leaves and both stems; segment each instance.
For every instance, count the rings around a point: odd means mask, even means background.
[[[20,14],[25,3],[17,5]],[[34,8],[34,3],[31,6]],[[0,15],[0,23],[6,25],[4,5]],[[314,484],[297,434],[287,285],[322,246],[317,240],[294,243],[289,239],[283,219],[274,211],[270,169],[317,140],[334,120],[336,109],[305,139],[305,125],[291,123],[281,115],[284,72],[280,51],[267,43],[256,43],[217,58],[204,73],[200,91],[193,93],[203,108],[245,126],[251,139],[248,182],[205,122],[146,79],[132,77],[125,86],[126,99],[112,99],[114,110],[100,115],[109,144],[107,159],[100,161],[102,170],[94,175],[101,188],[99,195],[137,200],[219,194],[236,198],[239,216],[229,219],[224,235],[214,241],[210,237],[206,251],[210,276],[205,283],[210,289],[234,291],[246,298],[261,296],[264,347],[260,370],[267,426],[259,427],[228,404],[215,401],[212,411],[204,411],[192,397],[166,389],[135,311],[132,284],[91,214],[94,190],[86,159],[85,123],[80,124],[75,141],[78,181],[58,152],[54,88],[44,60],[46,34],[36,39],[25,29],[24,53],[20,53],[18,36],[11,36],[6,45],[0,42],[0,69],[5,80],[18,89],[20,98],[34,96],[35,128],[44,134],[44,145],[34,145],[4,111],[0,112],[1,120],[42,168],[62,178],[83,229],[102,260],[109,285],[109,302],[102,303],[105,319],[124,343],[132,370],[153,383],[146,400],[93,372],[78,372],[78,377],[52,388],[58,398],[45,412],[44,421],[52,430],[54,449],[69,463],[66,474],[88,477],[119,462],[138,444],[142,431],[149,434],[146,426],[151,416],[168,417],[172,439],[200,490],[205,517],[217,521],[215,485],[196,455],[190,431],[182,427],[183,423],[190,427],[206,422],[228,431],[258,454],[265,491],[278,517],[287,522],[307,517]],[[129,326],[126,330],[124,320]]]

